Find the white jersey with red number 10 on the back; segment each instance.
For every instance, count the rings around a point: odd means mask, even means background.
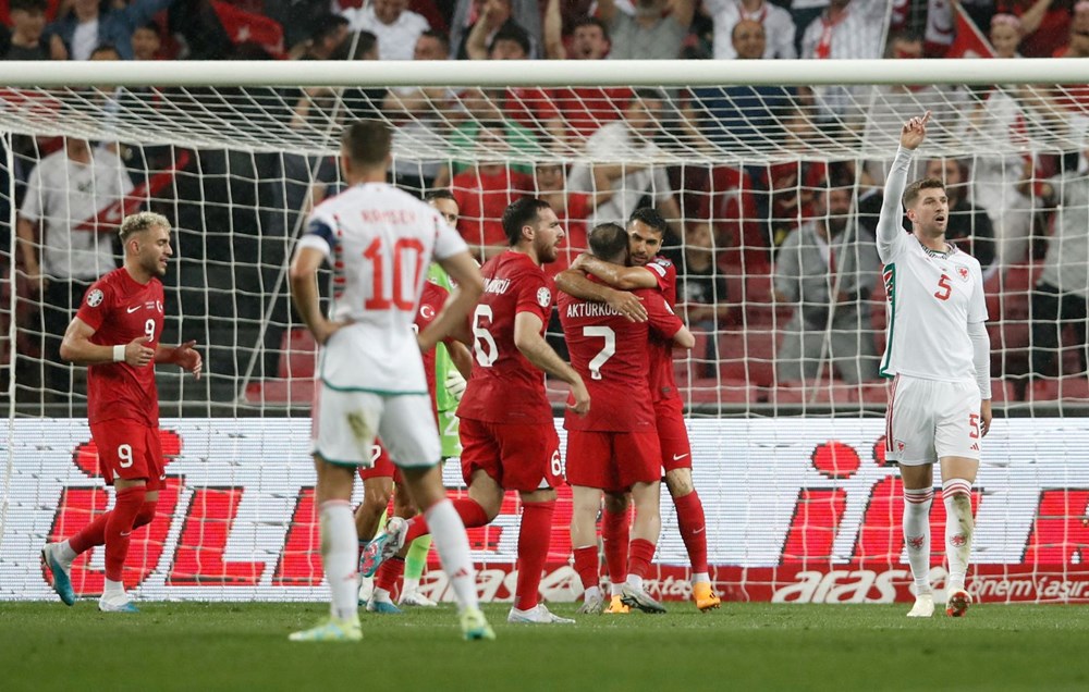
[[[432,256],[467,252],[465,240],[412,195],[365,183],[319,205],[298,247],[329,260],[330,319],[352,322],[321,349],[321,381],[337,390],[427,394],[416,306]]]

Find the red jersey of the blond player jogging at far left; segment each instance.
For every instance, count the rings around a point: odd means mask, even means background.
[[[76,317],[95,333],[91,344],[117,346],[139,336],[156,348],[162,335],[162,282],[139,284],[122,267],[87,289]],[[126,418],[155,428],[159,424],[159,392],[155,362],[134,368],[126,362],[105,362],[87,368],[87,422]]]

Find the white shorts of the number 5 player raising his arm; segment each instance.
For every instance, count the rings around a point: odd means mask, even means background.
[[[885,413],[885,457],[902,466],[979,459],[979,386],[896,375]]]

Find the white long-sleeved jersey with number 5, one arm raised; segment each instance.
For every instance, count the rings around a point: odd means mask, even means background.
[[[956,247],[938,252],[904,231],[901,198],[910,162],[911,151],[896,152],[878,220],[889,316],[881,374],[975,382],[968,324],[987,321],[982,272]]]

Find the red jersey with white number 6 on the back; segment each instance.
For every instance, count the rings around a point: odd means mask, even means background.
[[[552,313],[552,288],[528,255],[507,250],[480,269],[484,295],[473,311],[476,359],[458,418],[489,423],[542,423],[552,420],[544,373],[514,346],[514,317],[536,314],[543,336]]]

